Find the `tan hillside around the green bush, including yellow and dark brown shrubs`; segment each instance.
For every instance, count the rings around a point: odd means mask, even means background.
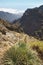
[[[27,34],[24,34],[24,33],[17,33],[17,32],[10,31],[10,32],[6,32],[6,35],[4,35],[0,32],[0,52],[1,52],[0,53],[0,64],[1,65],[3,65],[3,58],[5,59],[4,56],[5,56],[5,54],[7,54],[7,50],[8,50],[8,53],[10,53],[9,49],[12,49],[12,46],[14,46],[13,48],[15,48],[15,44],[18,45],[18,43],[27,44],[28,48],[31,49],[32,52],[34,51],[35,54],[37,53],[36,56],[40,59],[40,61],[42,63],[42,61],[43,61],[43,41],[39,41],[39,40],[35,39],[34,37],[28,36]],[[19,51],[19,49],[18,49],[18,51]],[[12,54],[12,52],[15,53],[14,49],[12,49],[10,54]],[[29,62],[32,62],[32,61],[29,61]],[[34,59],[33,59],[33,62],[34,62]],[[36,62],[36,60],[35,60],[35,62]],[[11,63],[12,63],[12,61],[11,61]],[[4,64],[4,65],[6,65],[6,64]],[[36,63],[36,65],[37,65],[37,63]],[[43,65],[43,64],[41,64],[41,65]]]

